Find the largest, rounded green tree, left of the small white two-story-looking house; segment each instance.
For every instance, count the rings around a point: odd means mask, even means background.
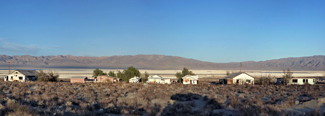
[[[136,69],[133,66],[127,67],[127,69],[124,69],[122,72],[122,80],[128,82],[130,78],[133,78],[135,76],[140,77],[141,73],[138,69]]]

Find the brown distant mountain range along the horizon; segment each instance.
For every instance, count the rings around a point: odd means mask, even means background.
[[[81,68],[81,69],[115,69],[119,62],[119,69],[134,66],[138,69],[166,69],[181,70],[187,67],[191,70],[239,70],[240,63],[212,63],[178,56],[165,55],[125,55],[125,56],[8,56],[0,55],[1,68]],[[242,70],[324,70],[325,56],[290,57],[267,61],[246,61],[242,63]]]

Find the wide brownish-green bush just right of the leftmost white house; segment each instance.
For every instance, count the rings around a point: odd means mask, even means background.
[[[52,71],[43,71],[40,70],[38,72],[38,81],[43,82],[58,82],[59,75],[56,73],[53,73]]]

